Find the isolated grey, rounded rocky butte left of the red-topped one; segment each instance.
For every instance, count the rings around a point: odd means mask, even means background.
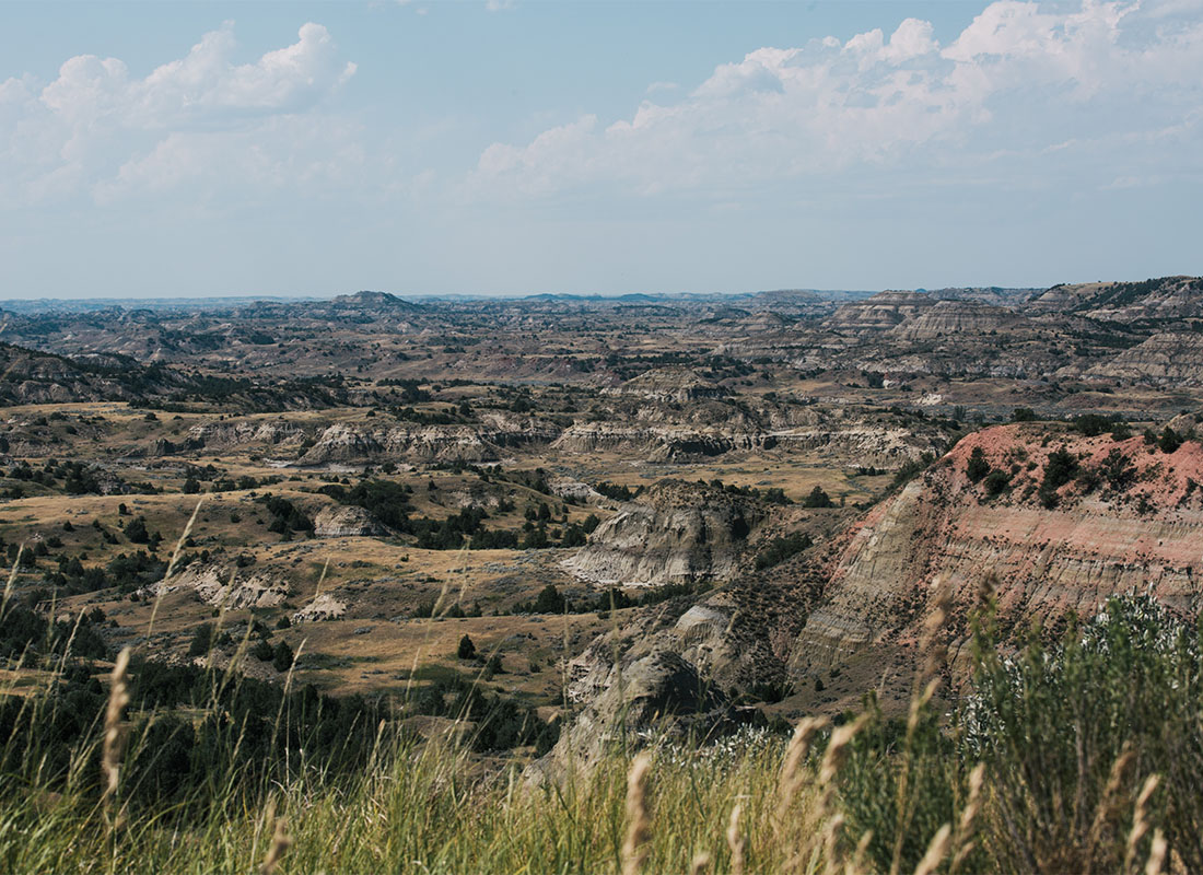
[[[598,526],[564,566],[605,586],[729,580],[746,563],[748,534],[761,519],[755,499],[660,480]]]

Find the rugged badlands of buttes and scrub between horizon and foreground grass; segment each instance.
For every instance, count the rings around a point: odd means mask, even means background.
[[[968,773],[985,741],[972,756],[956,746],[972,723],[961,709],[979,714],[1032,648],[1061,652],[1083,623],[1138,608],[1156,613],[1149,634],[1183,629],[1193,646],[1203,278],[30,301],[6,305],[0,329],[0,546],[12,568],[0,743],[22,792],[90,798],[72,775],[93,778],[113,753],[94,733],[118,726],[102,713],[125,651],[120,726],[138,740],[123,798],[160,806],[164,823],[211,792],[219,755],[233,798],[259,805],[257,788],[284,780],[263,757],[308,756],[338,779],[387,738],[419,762],[450,745],[457,780],[486,796],[547,798],[573,775],[617,768],[618,796],[605,799],[618,799],[621,833],[627,759],[615,767],[615,745],[688,757],[794,733],[805,758],[795,727],[859,728],[866,714],[877,734],[863,738],[877,740],[840,791],[845,838],[822,793],[798,822],[826,836],[812,864],[911,870],[979,792]],[[1003,657],[1012,668],[991,662]],[[958,828],[962,870],[1106,870],[1156,855],[1163,834],[1145,829],[1124,857],[1131,830],[1116,818],[1148,816],[1137,779],[1165,767],[1154,753],[1130,762],[1131,739],[1077,720],[1077,765],[1038,798],[1077,787],[1074,822],[1018,822],[1000,785],[994,844],[971,847]],[[912,756],[966,763],[926,787],[934,812],[882,814],[858,796],[872,785],[893,798],[881,787],[901,782],[909,799],[899,775]],[[1032,780],[1051,768],[1024,764]],[[404,781],[438,785],[444,765],[429,768]],[[1190,870],[1198,834],[1181,832],[1175,779],[1160,780],[1162,826],[1179,829],[1167,865]],[[743,851],[721,840],[735,784],[715,786],[725,790],[698,805],[722,824],[701,817],[699,829],[735,870]],[[745,816],[770,829],[764,810]],[[247,828],[261,853],[266,827]],[[148,829],[143,851],[176,861]],[[663,870],[681,870],[698,841],[658,850]],[[414,853],[455,870],[467,864],[452,845]],[[788,868],[766,847],[754,870]],[[574,871],[598,852],[559,851]],[[309,853],[319,868],[371,868],[328,845]],[[958,870],[954,851],[941,853]]]

